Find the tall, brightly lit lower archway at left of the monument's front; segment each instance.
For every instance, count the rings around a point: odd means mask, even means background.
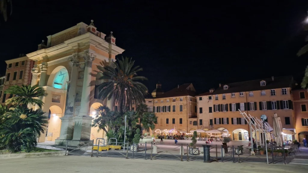
[[[60,137],[62,109],[59,106],[51,106],[48,114],[48,127],[46,133],[46,141],[55,141]]]

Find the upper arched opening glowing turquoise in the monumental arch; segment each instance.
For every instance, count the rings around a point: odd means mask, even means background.
[[[64,66],[58,66],[51,72],[48,78],[47,86],[66,90],[67,81],[69,81],[67,69]]]

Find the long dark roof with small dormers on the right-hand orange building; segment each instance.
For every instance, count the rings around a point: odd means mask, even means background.
[[[260,82],[264,80],[266,85],[261,86]],[[228,89],[224,90],[224,86],[228,85]],[[272,78],[262,78],[257,80],[243,81],[243,82],[234,82],[221,84],[221,87],[215,89],[212,93],[213,95],[217,94],[226,94],[226,93],[236,93],[236,92],[245,92],[245,91],[259,91],[259,90],[269,90],[276,88],[287,88],[293,86],[293,76],[279,76]],[[210,95],[209,92],[197,95]]]

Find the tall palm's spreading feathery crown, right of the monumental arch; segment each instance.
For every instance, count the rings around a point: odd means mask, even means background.
[[[103,76],[99,79],[108,80],[98,86],[99,98],[110,100],[113,96],[113,105],[118,104],[121,114],[129,110],[133,102],[143,103],[144,95],[148,91],[144,84],[138,82],[147,78],[137,75],[142,68],[133,67],[134,62],[127,57],[125,59],[122,57],[121,60],[112,62],[111,66],[99,68],[103,72]]]

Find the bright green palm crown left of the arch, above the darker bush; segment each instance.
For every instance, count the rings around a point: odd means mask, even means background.
[[[14,97],[7,99],[5,104],[9,105],[22,105],[22,107],[27,107],[30,104],[37,104],[41,109],[44,105],[43,101],[40,99],[36,99],[42,96],[47,96],[46,91],[43,87],[39,85],[14,85],[10,86],[6,91],[6,94],[15,95]]]

